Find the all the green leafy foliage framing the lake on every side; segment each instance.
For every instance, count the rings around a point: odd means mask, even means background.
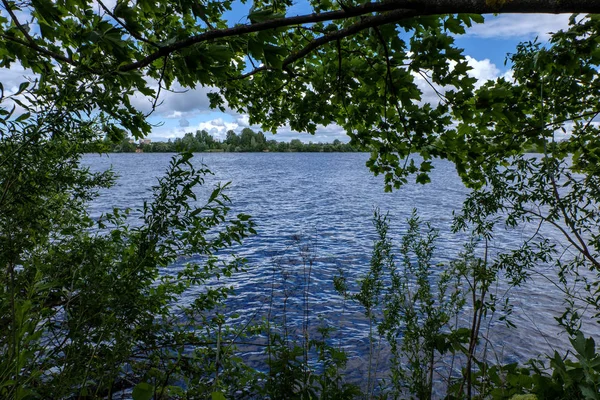
[[[315,2],[314,14],[292,18],[291,2],[255,2],[249,24],[228,27],[228,1],[2,0],[0,65],[19,62],[37,79],[0,87],[0,397],[600,397],[600,356],[582,333],[600,316],[600,20],[575,16],[547,46],[521,44],[513,80],[476,88],[452,35],[482,18],[455,12],[531,8],[491,3]],[[547,3],[537,9],[587,4]],[[415,76],[438,103],[422,102]],[[372,152],[368,166],[388,190],[427,183],[433,157],[473,188],[454,220],[472,239],[449,265],[435,264],[436,231],[416,214],[395,251],[376,212],[368,273],[332,277],[368,322],[359,385],[345,379],[337,328],[315,332],[304,313],[294,331],[286,297],[282,314],[260,323],[223,312],[227,278],[244,268],[231,246],[254,225],[230,215],[226,187],[203,187],[208,171],[189,153],[173,159],[139,219],[118,209],[89,217],[86,205],[114,179],[81,167],[81,155],[100,138],[148,134],[131,97],[155,109],[175,81],[218,88],[214,107],[264,129],[337,123]],[[523,156],[537,146],[542,157]],[[422,161],[407,161],[413,153]],[[563,240],[535,229],[491,251],[496,229],[526,224]],[[312,259],[300,257],[308,310]],[[556,320],[572,350],[504,365],[489,357],[482,326],[510,325],[511,303],[490,288],[518,286],[540,265],[564,293]],[[248,345],[264,349],[265,364],[245,362]]]

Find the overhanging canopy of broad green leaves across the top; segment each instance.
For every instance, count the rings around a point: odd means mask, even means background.
[[[426,182],[431,157],[450,159],[477,186],[482,157],[497,157],[498,146],[503,154],[519,152],[533,141],[518,135],[504,142],[490,128],[530,114],[511,109],[520,100],[510,83],[475,93],[454,36],[483,22],[483,13],[600,9],[595,1],[314,1],[307,3],[311,13],[292,15],[291,1],[257,1],[245,21],[231,24],[225,12],[239,4],[2,0],[0,65],[30,68],[60,101],[77,97],[71,107],[99,116],[116,138],[150,132],[133,95],[158,99],[174,83],[202,85],[214,88],[213,107],[248,113],[266,130],[340,125],[354,144],[373,150],[369,166],[388,188],[410,173]],[[594,18],[573,23],[596,31]],[[596,42],[581,41],[593,54]],[[537,61],[535,68],[545,67]],[[422,98],[417,76],[439,101]],[[405,164],[411,153],[424,162]]]

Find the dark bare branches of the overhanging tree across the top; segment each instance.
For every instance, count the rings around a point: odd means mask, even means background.
[[[80,66],[79,63],[73,59],[66,57],[63,54],[48,50],[47,48],[38,44],[36,39],[33,38],[28,33],[27,29],[18,21],[9,1],[1,1],[15,26],[23,34],[25,40],[6,34],[2,35],[3,38],[6,40],[11,40],[15,43],[19,43],[20,45],[27,46],[58,62],[67,63],[75,67]],[[109,16],[113,17],[116,23],[123,26],[134,39],[151,44],[155,48],[158,47],[155,51],[137,61],[115,67],[115,70],[119,72],[143,69],[160,58],[164,58],[198,43],[239,37],[273,29],[302,26],[306,27],[307,25],[314,23],[333,22],[356,17],[361,18],[351,26],[324,34],[323,36],[314,39],[304,48],[289,55],[284,60],[284,67],[298,59],[301,59],[302,57],[305,57],[315,49],[331,41],[351,36],[367,28],[395,23],[408,18],[461,13],[600,13],[600,0],[382,0],[353,7],[344,6],[335,11],[305,14],[294,17],[275,18],[253,24],[236,25],[224,29],[214,29],[214,27],[211,28],[211,26],[208,26],[209,30],[206,32],[181,39],[169,45],[160,46],[159,44],[149,42],[147,39],[144,39],[135,32],[132,32],[131,29],[128,29],[128,27],[120,19],[114,16],[114,13],[108,10],[108,7],[106,7],[102,2],[99,2],[99,4],[102,9],[104,9]],[[251,73],[243,76],[247,77],[267,68],[268,67],[261,67],[258,70],[254,70]],[[92,72],[98,74],[100,73],[98,71]]]

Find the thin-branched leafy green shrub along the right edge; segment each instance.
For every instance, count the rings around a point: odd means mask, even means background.
[[[490,120],[482,135],[497,147],[504,165],[480,164],[486,186],[468,196],[457,227],[470,224],[490,236],[496,228],[525,232],[521,243],[496,257],[495,268],[515,284],[543,275],[564,302],[554,317],[574,344],[583,342],[582,331],[597,330],[600,315],[600,92],[595,40],[599,20],[574,16],[571,24],[553,35],[548,46],[523,43],[517,48],[511,56],[514,83],[500,79],[476,93],[474,102],[480,106],[475,118]],[[484,102],[500,94],[515,99],[519,108],[491,123],[492,111]],[[466,124],[459,129],[467,129]],[[507,153],[501,138],[510,132],[540,153],[522,155],[518,146]],[[565,369],[559,360],[570,358],[564,351],[546,360],[555,375]],[[540,368],[529,373],[538,380],[549,379]],[[571,378],[552,384],[573,388]],[[571,395],[587,396],[579,390]]]

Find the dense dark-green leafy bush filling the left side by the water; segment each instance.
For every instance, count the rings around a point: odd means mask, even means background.
[[[135,223],[117,209],[92,220],[86,205],[112,175],[79,159],[101,120],[41,91],[24,84],[0,109],[0,396],[233,390],[243,368],[228,356],[239,332],[219,314],[231,292],[219,278],[243,260],[217,253],[253,223],[229,215],[226,185],[203,190],[208,170],[191,155],[173,159]],[[7,102],[25,111],[14,115]],[[178,303],[182,295],[191,304]]]

